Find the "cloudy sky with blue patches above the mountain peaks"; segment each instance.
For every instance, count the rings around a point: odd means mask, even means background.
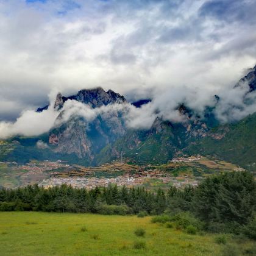
[[[99,86],[202,108],[255,66],[255,13],[255,0],[0,0],[0,121]]]

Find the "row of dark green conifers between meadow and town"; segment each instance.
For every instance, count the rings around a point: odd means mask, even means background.
[[[168,191],[155,192],[143,187],[118,188],[116,185],[91,190],[67,185],[48,189],[38,185],[1,188],[0,210],[110,215],[190,212],[210,230],[236,232],[255,219],[256,182],[250,172],[242,171],[210,176],[194,188],[170,187]]]

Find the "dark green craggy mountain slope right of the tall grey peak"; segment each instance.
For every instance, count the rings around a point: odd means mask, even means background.
[[[184,115],[184,113],[180,113]],[[158,117],[149,130],[127,130],[111,147],[105,147],[96,156],[99,163],[120,157],[132,157],[140,163],[161,163],[180,154],[191,142],[207,136],[209,128],[200,119],[183,116],[182,123],[171,123]]]

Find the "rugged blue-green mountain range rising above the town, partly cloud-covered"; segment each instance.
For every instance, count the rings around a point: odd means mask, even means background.
[[[247,93],[256,90],[256,66],[235,87],[244,83]],[[101,87],[80,90],[68,97],[59,93],[54,103],[54,109],[59,112],[54,128],[37,137],[5,140],[0,144],[0,160],[62,159],[81,165],[100,165],[119,159],[121,154],[137,163],[163,163],[180,155],[200,154],[215,155],[245,167],[255,166],[256,113],[221,124],[215,115],[220,100],[215,95],[215,106],[206,107],[201,115],[181,103],[177,110],[182,121],[171,122],[157,116],[149,129],[132,129],[126,125],[123,108],[126,105],[141,108],[151,99],[130,104],[124,96]],[[75,103],[77,112],[69,115],[66,102]],[[87,107],[87,115],[93,111],[93,118],[79,114],[83,106]],[[37,112],[48,108],[46,105]],[[66,115],[69,118],[65,119]]]

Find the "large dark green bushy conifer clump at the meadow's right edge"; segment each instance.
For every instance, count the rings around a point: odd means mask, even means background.
[[[237,232],[236,227],[247,224],[254,215],[255,193],[256,183],[252,173],[225,172],[204,179],[196,187],[191,208],[205,222],[231,222],[232,226],[228,224],[226,227],[235,227]]]

